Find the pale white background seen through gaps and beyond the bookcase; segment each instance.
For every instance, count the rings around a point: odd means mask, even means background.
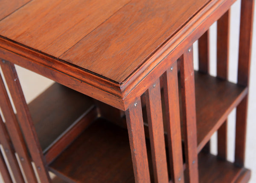
[[[240,4],[241,0],[238,0],[231,8],[229,80],[232,82],[236,82],[237,80]],[[256,183],[256,16],[254,17],[245,161],[245,166],[252,170],[250,183]],[[216,23],[210,27],[210,74],[213,76],[216,76],[216,28]],[[198,69],[197,46],[198,43],[196,42],[194,44],[195,69]],[[21,67],[17,67],[17,71],[27,102],[30,102],[45,88],[52,84],[51,80]],[[233,111],[228,118],[228,160],[231,162],[234,161],[235,150],[235,115],[236,111]],[[217,153],[216,134],[212,137],[212,153]],[[0,182],[3,182],[1,177]]]

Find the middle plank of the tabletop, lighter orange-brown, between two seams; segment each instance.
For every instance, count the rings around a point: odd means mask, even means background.
[[[0,22],[0,35],[58,57],[128,1],[33,0]]]

